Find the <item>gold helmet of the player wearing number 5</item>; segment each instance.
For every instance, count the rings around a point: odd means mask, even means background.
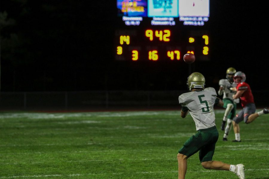
[[[189,75],[187,80],[187,86],[190,91],[192,88],[204,89],[204,85],[205,85],[204,75],[202,75],[199,72],[194,72],[191,75]]]

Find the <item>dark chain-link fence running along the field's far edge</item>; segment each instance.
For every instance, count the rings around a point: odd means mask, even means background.
[[[186,91],[1,92],[0,109],[179,107],[178,96],[184,92]],[[253,91],[253,95],[257,107],[266,107],[268,91]]]

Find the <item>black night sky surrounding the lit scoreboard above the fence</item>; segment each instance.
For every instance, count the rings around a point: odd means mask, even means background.
[[[252,90],[268,83],[267,9],[253,1],[210,1],[211,60],[116,61],[116,1],[1,1],[1,91],[185,90],[189,72],[218,88],[227,68]],[[265,85],[268,86],[268,85]]]

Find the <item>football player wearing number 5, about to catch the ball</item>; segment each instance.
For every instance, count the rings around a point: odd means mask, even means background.
[[[184,179],[187,172],[187,159],[199,151],[199,159],[205,169],[227,170],[245,179],[244,165],[230,165],[221,161],[213,161],[215,145],[218,141],[218,130],[215,126],[214,105],[223,106],[217,98],[214,88],[204,88],[205,78],[199,72],[188,77],[187,85],[190,92],[178,97],[181,104],[181,117],[192,116],[197,133],[190,137],[178,151],[178,179]]]

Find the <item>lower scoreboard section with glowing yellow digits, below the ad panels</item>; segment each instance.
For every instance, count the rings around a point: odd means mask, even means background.
[[[115,38],[115,58],[122,61],[179,61],[181,53],[192,53],[201,61],[210,60],[210,37],[205,31],[193,31],[186,36],[178,33],[173,29],[119,31]]]

